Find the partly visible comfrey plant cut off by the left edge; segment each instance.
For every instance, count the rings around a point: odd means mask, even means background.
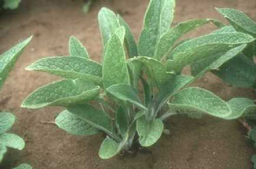
[[[31,39],[32,37],[18,43],[18,45],[0,55],[0,87],[3,86],[9,72],[12,70],[18,57],[20,57]],[[7,147],[18,150],[22,150],[25,147],[25,142],[21,137],[7,132],[14,125],[15,118],[13,114],[0,112],[0,162],[7,152]],[[28,164],[21,164],[14,169],[32,169],[32,167]]]

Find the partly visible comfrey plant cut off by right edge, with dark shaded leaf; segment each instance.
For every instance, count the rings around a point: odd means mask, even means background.
[[[228,8],[217,9],[217,11],[230,22],[230,26],[224,26],[215,33],[244,32],[256,38],[256,23],[242,11]],[[256,64],[253,60],[255,55],[256,41],[252,41],[240,53],[237,53],[234,58],[220,66],[218,70],[214,70],[213,73],[228,84],[255,89]],[[202,65],[205,63],[200,62]],[[232,105],[233,112],[245,118],[244,125],[249,130],[249,138],[256,142],[256,105],[254,101],[246,98],[235,98],[230,100],[230,105]],[[256,168],[256,155],[253,155],[252,162],[255,163],[253,168]]]

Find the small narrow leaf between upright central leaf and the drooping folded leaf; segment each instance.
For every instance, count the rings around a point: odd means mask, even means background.
[[[136,59],[128,59],[127,65],[129,68],[131,84],[135,89],[138,89],[138,82],[142,73],[142,62]]]

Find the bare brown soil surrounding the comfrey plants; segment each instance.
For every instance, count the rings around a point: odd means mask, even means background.
[[[112,3],[102,0],[97,1],[90,13],[85,15],[81,11],[82,0],[24,0],[16,11],[8,11],[0,16],[0,53],[34,34],[32,43],[20,57],[0,95],[0,110],[16,114],[17,121],[12,132],[25,139],[26,148],[23,151],[10,151],[0,168],[10,168],[22,162],[39,169],[251,168],[253,148],[245,137],[246,130],[236,120],[171,118],[167,122],[171,134],[164,135],[152,146],[152,153],[101,160],[98,149],[102,135],[75,137],[45,123],[54,121],[61,108],[20,108],[22,100],[30,92],[58,79],[48,74],[26,72],[26,66],[45,56],[68,55],[68,38],[71,34],[81,39],[91,57],[99,62],[102,44],[97,13],[100,7],[105,5],[123,14],[135,37],[138,37],[147,4],[148,0],[113,0]],[[234,7],[256,19],[255,0],[179,0],[174,24],[194,18],[223,20],[214,7]],[[195,37],[210,30],[213,30],[213,26],[205,26],[189,36]],[[194,85],[209,89],[223,99],[254,97],[252,90],[228,87],[212,74],[207,74]]]

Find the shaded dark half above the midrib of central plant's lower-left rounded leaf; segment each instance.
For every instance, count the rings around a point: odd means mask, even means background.
[[[112,135],[112,125],[108,115],[102,110],[98,110],[91,105],[74,105],[67,107],[70,114],[78,116],[90,126],[102,130]]]

